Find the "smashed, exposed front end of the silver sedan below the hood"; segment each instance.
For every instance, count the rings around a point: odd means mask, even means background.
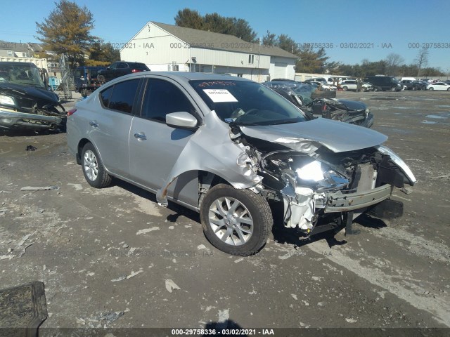
[[[352,220],[368,211],[382,218],[401,216],[402,204],[391,204],[390,197],[395,188],[414,185],[416,178],[397,154],[375,145],[380,134],[369,138],[375,140],[372,146],[354,142],[354,150],[349,150],[339,142],[327,147],[328,141],[274,140],[258,136],[264,135],[261,131],[243,128],[240,140],[262,177],[259,192],[283,203],[285,227],[316,234],[347,225],[351,232]],[[391,212],[379,212],[377,207]]]

